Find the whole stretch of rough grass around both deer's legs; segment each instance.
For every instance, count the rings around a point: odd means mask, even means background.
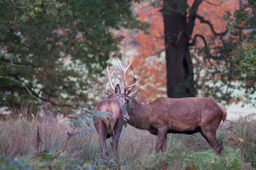
[[[218,140],[224,150],[219,157],[200,134],[169,134],[167,152],[155,154],[157,137],[128,125],[119,140],[118,160],[110,140],[108,157],[101,159],[96,132],[70,136],[74,128],[65,121],[14,116],[0,121],[0,154],[33,169],[255,169],[254,116],[221,125]]]

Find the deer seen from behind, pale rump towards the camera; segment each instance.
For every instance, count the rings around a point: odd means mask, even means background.
[[[99,133],[101,152],[104,155],[108,154],[108,150],[106,149],[106,139],[108,137],[112,137],[111,147],[116,157],[118,157],[118,140],[123,128],[123,121],[128,121],[129,115],[126,111],[126,100],[121,94],[120,86],[117,84],[115,88],[113,87],[111,81],[112,74],[109,74],[108,71],[108,80],[111,85],[111,89],[115,91],[115,93],[108,94],[108,97],[100,101],[94,110],[95,112],[100,111],[107,112],[109,114],[108,116],[102,115],[101,118],[94,116],[94,126]]]

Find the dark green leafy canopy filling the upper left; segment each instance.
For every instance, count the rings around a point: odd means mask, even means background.
[[[131,1],[0,1],[0,105],[75,108],[102,89],[110,55],[134,28]]]

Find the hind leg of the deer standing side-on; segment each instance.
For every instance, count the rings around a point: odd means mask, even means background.
[[[216,139],[215,128],[208,128],[207,126],[201,128],[201,135],[206,139],[208,144],[211,145],[216,155],[221,154],[221,150],[223,150],[223,147]]]

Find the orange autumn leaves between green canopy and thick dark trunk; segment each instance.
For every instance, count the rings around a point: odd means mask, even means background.
[[[166,94],[165,59],[156,55],[165,48],[164,26],[160,8],[151,6],[150,1],[135,4],[135,11],[138,11],[138,19],[150,23],[150,27],[147,32],[138,30],[138,33],[133,35],[136,42],[133,49],[138,55],[128,57],[128,60],[133,60],[135,77],[140,79],[138,101],[147,102]]]

